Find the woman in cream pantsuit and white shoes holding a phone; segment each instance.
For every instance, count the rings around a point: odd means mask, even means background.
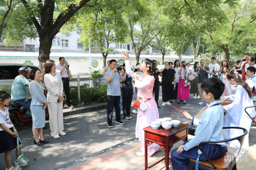
[[[63,132],[63,84],[60,73],[55,72],[56,66],[53,60],[47,60],[44,68],[46,73],[44,84],[48,90],[47,101],[51,136],[59,138],[59,134],[66,135]]]

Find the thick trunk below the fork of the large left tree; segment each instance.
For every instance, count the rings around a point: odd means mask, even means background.
[[[50,59],[52,40],[53,40],[53,37],[51,37],[48,34],[39,35],[40,45],[39,45],[38,61],[39,61],[39,69],[42,72],[42,77],[41,77],[42,85],[44,85],[44,74],[45,74],[44,65],[45,65],[45,62]]]

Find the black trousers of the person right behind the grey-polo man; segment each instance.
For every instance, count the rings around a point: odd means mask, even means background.
[[[131,104],[132,104],[133,90],[123,90],[123,112],[124,117],[131,115]]]

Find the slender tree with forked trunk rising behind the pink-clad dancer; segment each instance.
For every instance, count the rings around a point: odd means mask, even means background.
[[[125,18],[128,20],[126,32],[132,41],[132,48],[139,63],[140,53],[162,31],[163,27],[157,24],[159,15],[154,4],[148,6],[146,1],[128,2]]]

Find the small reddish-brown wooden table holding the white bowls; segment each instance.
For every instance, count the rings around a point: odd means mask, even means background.
[[[159,129],[152,129],[151,126],[143,128],[145,131],[145,170],[148,170],[152,166],[155,166],[162,160],[165,160],[165,169],[169,169],[169,152],[171,151],[172,145],[176,142],[183,140],[188,141],[188,127],[189,125],[180,123],[178,127],[173,127],[169,130],[165,130],[162,126]],[[152,165],[148,166],[148,146],[152,143],[159,144],[164,150],[165,156],[159,159]],[[171,162],[171,161],[170,161]]]

